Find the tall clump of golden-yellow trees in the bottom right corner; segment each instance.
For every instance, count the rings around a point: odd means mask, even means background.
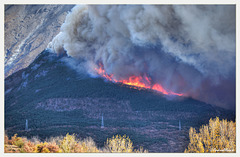
[[[203,125],[199,133],[191,127],[189,138],[185,153],[235,153],[236,122],[220,121],[218,117],[210,119],[209,125]]]

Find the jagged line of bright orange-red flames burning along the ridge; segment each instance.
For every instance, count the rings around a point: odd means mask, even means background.
[[[126,84],[132,87],[138,88],[145,88],[145,89],[152,89],[158,92],[161,92],[165,95],[177,95],[177,96],[184,96],[181,93],[175,93],[172,91],[165,90],[160,84],[152,84],[151,78],[147,76],[130,76],[126,80],[116,80],[113,78],[113,74],[109,75],[103,68],[103,65],[100,64],[99,68],[95,68],[95,71],[103,78],[107,79],[108,81]]]

